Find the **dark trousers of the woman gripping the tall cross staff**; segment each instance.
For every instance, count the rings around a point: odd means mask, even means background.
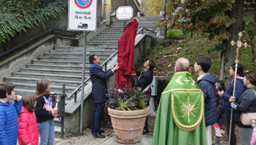
[[[227,131],[228,131],[228,136],[229,136],[229,127],[230,127],[230,116],[231,116],[231,111],[226,110],[226,129],[227,129]],[[236,145],[235,115],[234,115],[234,110],[233,110],[233,115],[232,115],[230,145]]]

